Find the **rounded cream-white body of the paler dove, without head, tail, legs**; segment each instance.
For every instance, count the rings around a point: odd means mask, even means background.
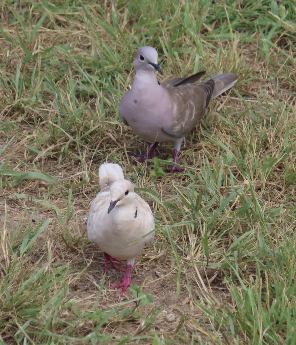
[[[136,258],[154,238],[154,232],[150,233],[154,218],[149,205],[135,192],[130,194],[131,204],[114,207],[108,214],[110,187],[104,188],[92,201],[88,218],[89,240],[110,256],[123,260]]]

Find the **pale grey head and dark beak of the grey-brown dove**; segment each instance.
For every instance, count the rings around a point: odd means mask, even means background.
[[[156,69],[161,75],[162,70],[157,62],[157,51],[153,47],[140,47],[135,56],[136,71],[152,71]]]

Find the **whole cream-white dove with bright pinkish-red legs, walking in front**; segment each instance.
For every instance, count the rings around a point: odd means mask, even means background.
[[[148,203],[137,195],[134,185],[124,178],[118,164],[105,163],[99,168],[100,193],[91,202],[87,233],[90,242],[105,253],[105,272],[110,262],[127,260],[122,283],[111,286],[120,288],[122,296],[130,286],[131,270],[136,256],[154,239],[154,217]]]

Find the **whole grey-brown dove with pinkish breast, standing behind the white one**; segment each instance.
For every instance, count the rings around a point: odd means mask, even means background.
[[[162,75],[153,47],[140,47],[136,51],[136,75],[131,89],[122,97],[119,117],[142,139],[152,142],[145,155],[131,153],[140,162],[154,157],[160,141],[174,146],[174,165],[170,173],[182,171],[177,166],[181,143],[203,118],[209,101],[231,88],[239,76],[225,73],[195,83],[205,72],[187,78],[175,78],[160,83],[155,70]]]

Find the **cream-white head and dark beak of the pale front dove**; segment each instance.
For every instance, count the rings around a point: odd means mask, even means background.
[[[127,205],[132,203],[135,198],[134,185],[128,180],[115,181],[110,187],[111,202],[108,214],[115,206]]]

